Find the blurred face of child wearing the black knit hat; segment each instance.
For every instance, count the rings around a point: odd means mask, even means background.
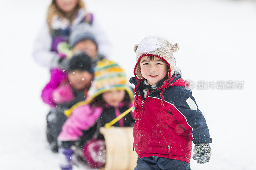
[[[68,72],[68,80],[76,90],[83,90],[91,86],[93,74],[88,71],[73,70]]]

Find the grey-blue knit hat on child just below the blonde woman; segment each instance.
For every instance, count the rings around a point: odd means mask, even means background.
[[[98,47],[98,43],[93,34],[92,27],[88,23],[80,23],[71,30],[71,34],[69,36],[70,48],[73,48],[79,41],[83,39],[92,40]]]

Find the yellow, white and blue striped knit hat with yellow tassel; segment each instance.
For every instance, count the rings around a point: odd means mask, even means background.
[[[94,80],[88,91],[88,97],[85,101],[75,104],[69,110],[65,110],[65,115],[69,116],[76,107],[88,104],[100,94],[114,89],[125,90],[133,102],[134,95],[132,89],[127,85],[124,70],[114,61],[100,60],[94,68]]]

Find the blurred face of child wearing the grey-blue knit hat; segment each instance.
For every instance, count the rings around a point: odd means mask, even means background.
[[[85,40],[78,42],[74,46],[74,51],[83,51],[89,57],[94,58],[94,57],[96,57],[96,54],[97,54],[97,46],[92,40],[85,39]]]

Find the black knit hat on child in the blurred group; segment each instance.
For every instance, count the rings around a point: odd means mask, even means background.
[[[85,53],[76,53],[68,61],[68,71],[83,70],[93,73],[91,58]]]

